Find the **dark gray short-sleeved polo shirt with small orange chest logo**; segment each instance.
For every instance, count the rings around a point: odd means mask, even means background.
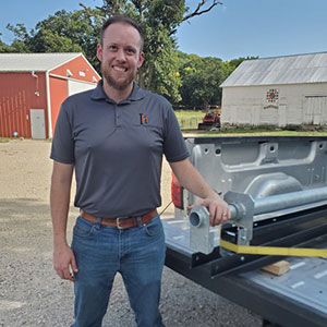
[[[189,156],[170,104],[136,84],[116,104],[99,82],[62,104],[50,157],[75,166],[76,207],[118,217],[161,205],[162,154],[170,162]]]

